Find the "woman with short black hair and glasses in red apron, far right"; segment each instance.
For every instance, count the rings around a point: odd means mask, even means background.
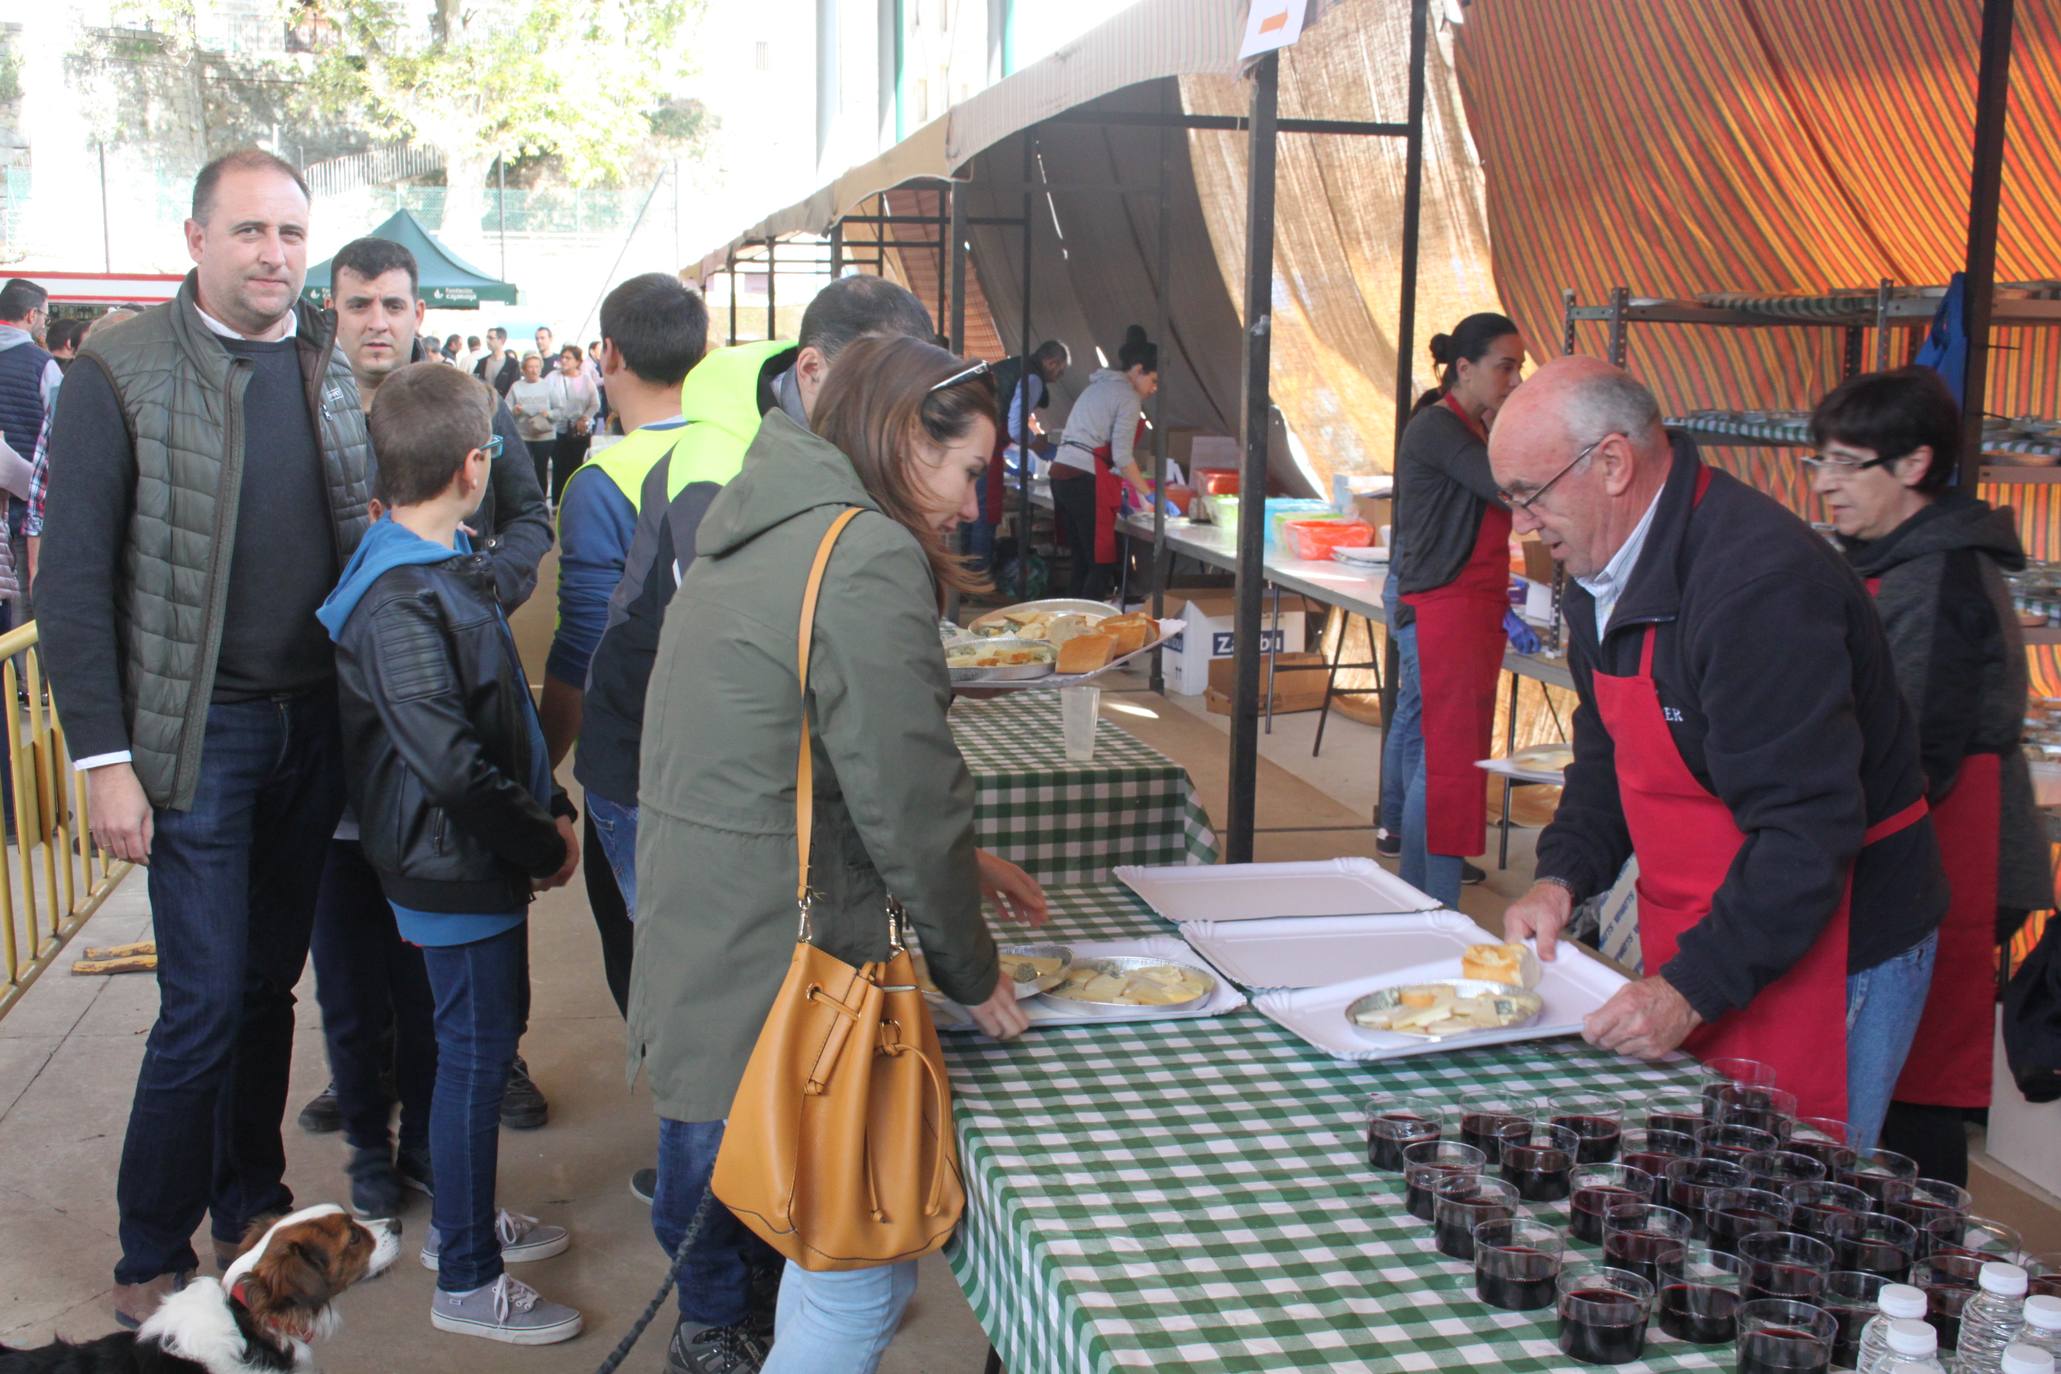
[[[1964,1182],[1964,1117],[1989,1106],[1997,911],[2045,906],[2047,845],[2018,752],[2026,655],[2003,573],[2024,566],[2007,511],[1954,492],[1960,408],[1937,373],[1843,383],[1812,416],[1812,486],[1876,597],[1919,723],[1950,906],[1931,993],[1882,1143]]]

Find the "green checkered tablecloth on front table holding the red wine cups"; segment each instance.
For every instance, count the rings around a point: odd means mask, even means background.
[[[1169,929],[1123,888],[1051,892],[1055,939]],[[967,1220],[946,1252],[1012,1374],[1105,1370],[1570,1370],[1552,1312],[1474,1298],[1474,1271],[1366,1166],[1377,1088],[1694,1086],[1581,1040],[1393,1065],[1327,1059],[1251,1007],[1228,1016],[944,1036]],[[1564,1230],[1566,1203],[1525,1211]],[[1568,1244],[1570,1259],[1593,1246]],[[1729,1370],[1653,1325],[1638,1370]]]

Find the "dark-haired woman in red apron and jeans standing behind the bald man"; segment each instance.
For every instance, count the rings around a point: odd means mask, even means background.
[[[1511,513],[1488,470],[1488,416],[1517,387],[1525,344],[1505,315],[1430,342],[1445,371],[1395,455],[1395,639],[1416,680],[1422,748],[1404,750],[1404,882],[1459,906],[1465,855],[1486,849],[1488,758],[1511,608]]]

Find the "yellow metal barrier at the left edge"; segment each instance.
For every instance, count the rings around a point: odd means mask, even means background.
[[[16,659],[27,667],[27,684]],[[6,1016],[130,865],[93,843],[87,779],[72,768],[64,727],[43,700],[33,620],[0,634],[0,707],[4,764],[14,785],[14,840],[0,847],[0,1016]]]

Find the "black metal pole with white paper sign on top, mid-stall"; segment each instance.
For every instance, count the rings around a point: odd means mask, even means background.
[[[1253,142],[1245,183],[1245,472],[1239,480],[1237,618],[1230,707],[1228,863],[1253,861],[1259,810],[1259,593],[1265,585],[1268,525],[1268,365],[1274,332],[1274,115],[1280,101],[1280,54],[1253,68]]]

